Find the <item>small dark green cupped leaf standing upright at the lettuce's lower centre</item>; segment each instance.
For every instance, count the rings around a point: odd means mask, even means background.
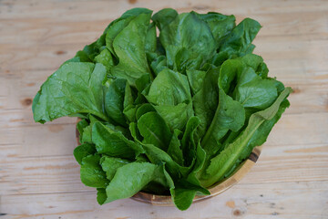
[[[157,112],[148,112],[141,116],[138,119],[138,130],[144,143],[154,144],[164,151],[168,149],[171,133]]]

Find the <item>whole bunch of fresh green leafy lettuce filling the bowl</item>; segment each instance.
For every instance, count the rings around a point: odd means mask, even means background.
[[[260,28],[212,12],[128,10],[47,78],[34,119],[81,119],[74,156],[98,203],[142,190],[170,194],[186,210],[266,141],[289,107],[291,89],[252,54]]]

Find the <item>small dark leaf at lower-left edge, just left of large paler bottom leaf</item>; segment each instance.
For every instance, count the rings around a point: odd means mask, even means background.
[[[81,162],[81,181],[89,187],[106,188],[108,179],[99,164],[100,156],[88,155]]]

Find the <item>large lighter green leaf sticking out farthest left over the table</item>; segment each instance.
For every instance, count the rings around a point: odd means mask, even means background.
[[[36,94],[34,119],[45,123],[77,113],[91,113],[108,120],[102,110],[105,77],[106,68],[101,64],[69,62],[61,66]]]

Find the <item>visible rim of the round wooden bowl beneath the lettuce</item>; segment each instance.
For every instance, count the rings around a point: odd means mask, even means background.
[[[79,119],[77,119],[77,122]],[[79,142],[79,132],[76,130],[76,138],[77,138],[77,145],[80,145]],[[230,177],[211,185],[208,190],[210,191],[209,195],[196,195],[193,203],[198,203],[214,197],[220,193],[231,188],[232,185],[241,181],[241,179],[250,172],[251,167],[257,162],[260,154],[261,154],[261,146],[255,147],[253,151],[251,151],[251,155],[249,158],[241,162],[240,166],[231,174]],[[138,192],[131,197],[131,199],[138,201],[140,203],[149,203],[152,205],[159,205],[159,206],[174,206],[170,195],[159,195],[159,194],[152,194],[152,193],[144,193]]]

